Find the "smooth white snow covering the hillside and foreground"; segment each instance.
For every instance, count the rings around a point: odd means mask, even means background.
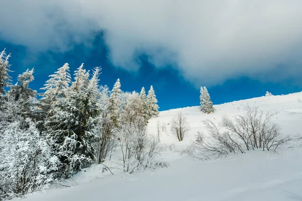
[[[170,163],[168,168],[131,175],[113,168],[112,176],[109,171],[102,172],[102,165],[94,165],[73,177],[78,185],[35,193],[22,200],[302,200],[300,147],[277,154],[255,150],[206,162],[181,155],[197,132],[206,134],[203,120],[219,123],[223,116],[242,114],[247,104],[278,112],[273,121],[281,125],[284,134],[301,134],[302,92],[215,105],[214,114],[202,114],[199,107],[164,111],[150,120],[148,129],[157,135],[157,122],[162,125],[160,139],[166,145],[162,157]],[[169,127],[178,112],[187,115],[191,126],[183,142],[171,134]]]

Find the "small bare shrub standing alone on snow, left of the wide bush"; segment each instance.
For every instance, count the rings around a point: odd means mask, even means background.
[[[190,125],[187,122],[187,117],[181,112],[171,121],[171,132],[176,135],[179,141],[184,139],[184,136],[189,132]]]

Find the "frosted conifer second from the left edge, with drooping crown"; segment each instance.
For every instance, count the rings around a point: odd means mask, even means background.
[[[18,76],[18,81],[20,85],[16,83],[12,85],[10,91],[8,92],[9,96],[14,96],[15,100],[22,98],[23,107],[22,112],[25,117],[31,117],[33,112],[33,101],[37,96],[37,91],[29,88],[29,83],[34,80],[34,69],[27,69],[25,72]]]

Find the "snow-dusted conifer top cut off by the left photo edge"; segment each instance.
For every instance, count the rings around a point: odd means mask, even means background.
[[[6,93],[4,87],[10,86],[10,82],[12,81],[12,77],[9,75],[9,72],[12,72],[10,70],[9,58],[10,54],[7,55],[4,49],[0,53],[0,95]]]

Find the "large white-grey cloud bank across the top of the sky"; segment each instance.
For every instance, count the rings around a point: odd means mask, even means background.
[[[300,0],[5,1],[0,39],[66,51],[104,30],[111,62],[128,70],[144,53],[196,84],[243,75],[280,80],[302,75],[300,8]]]

